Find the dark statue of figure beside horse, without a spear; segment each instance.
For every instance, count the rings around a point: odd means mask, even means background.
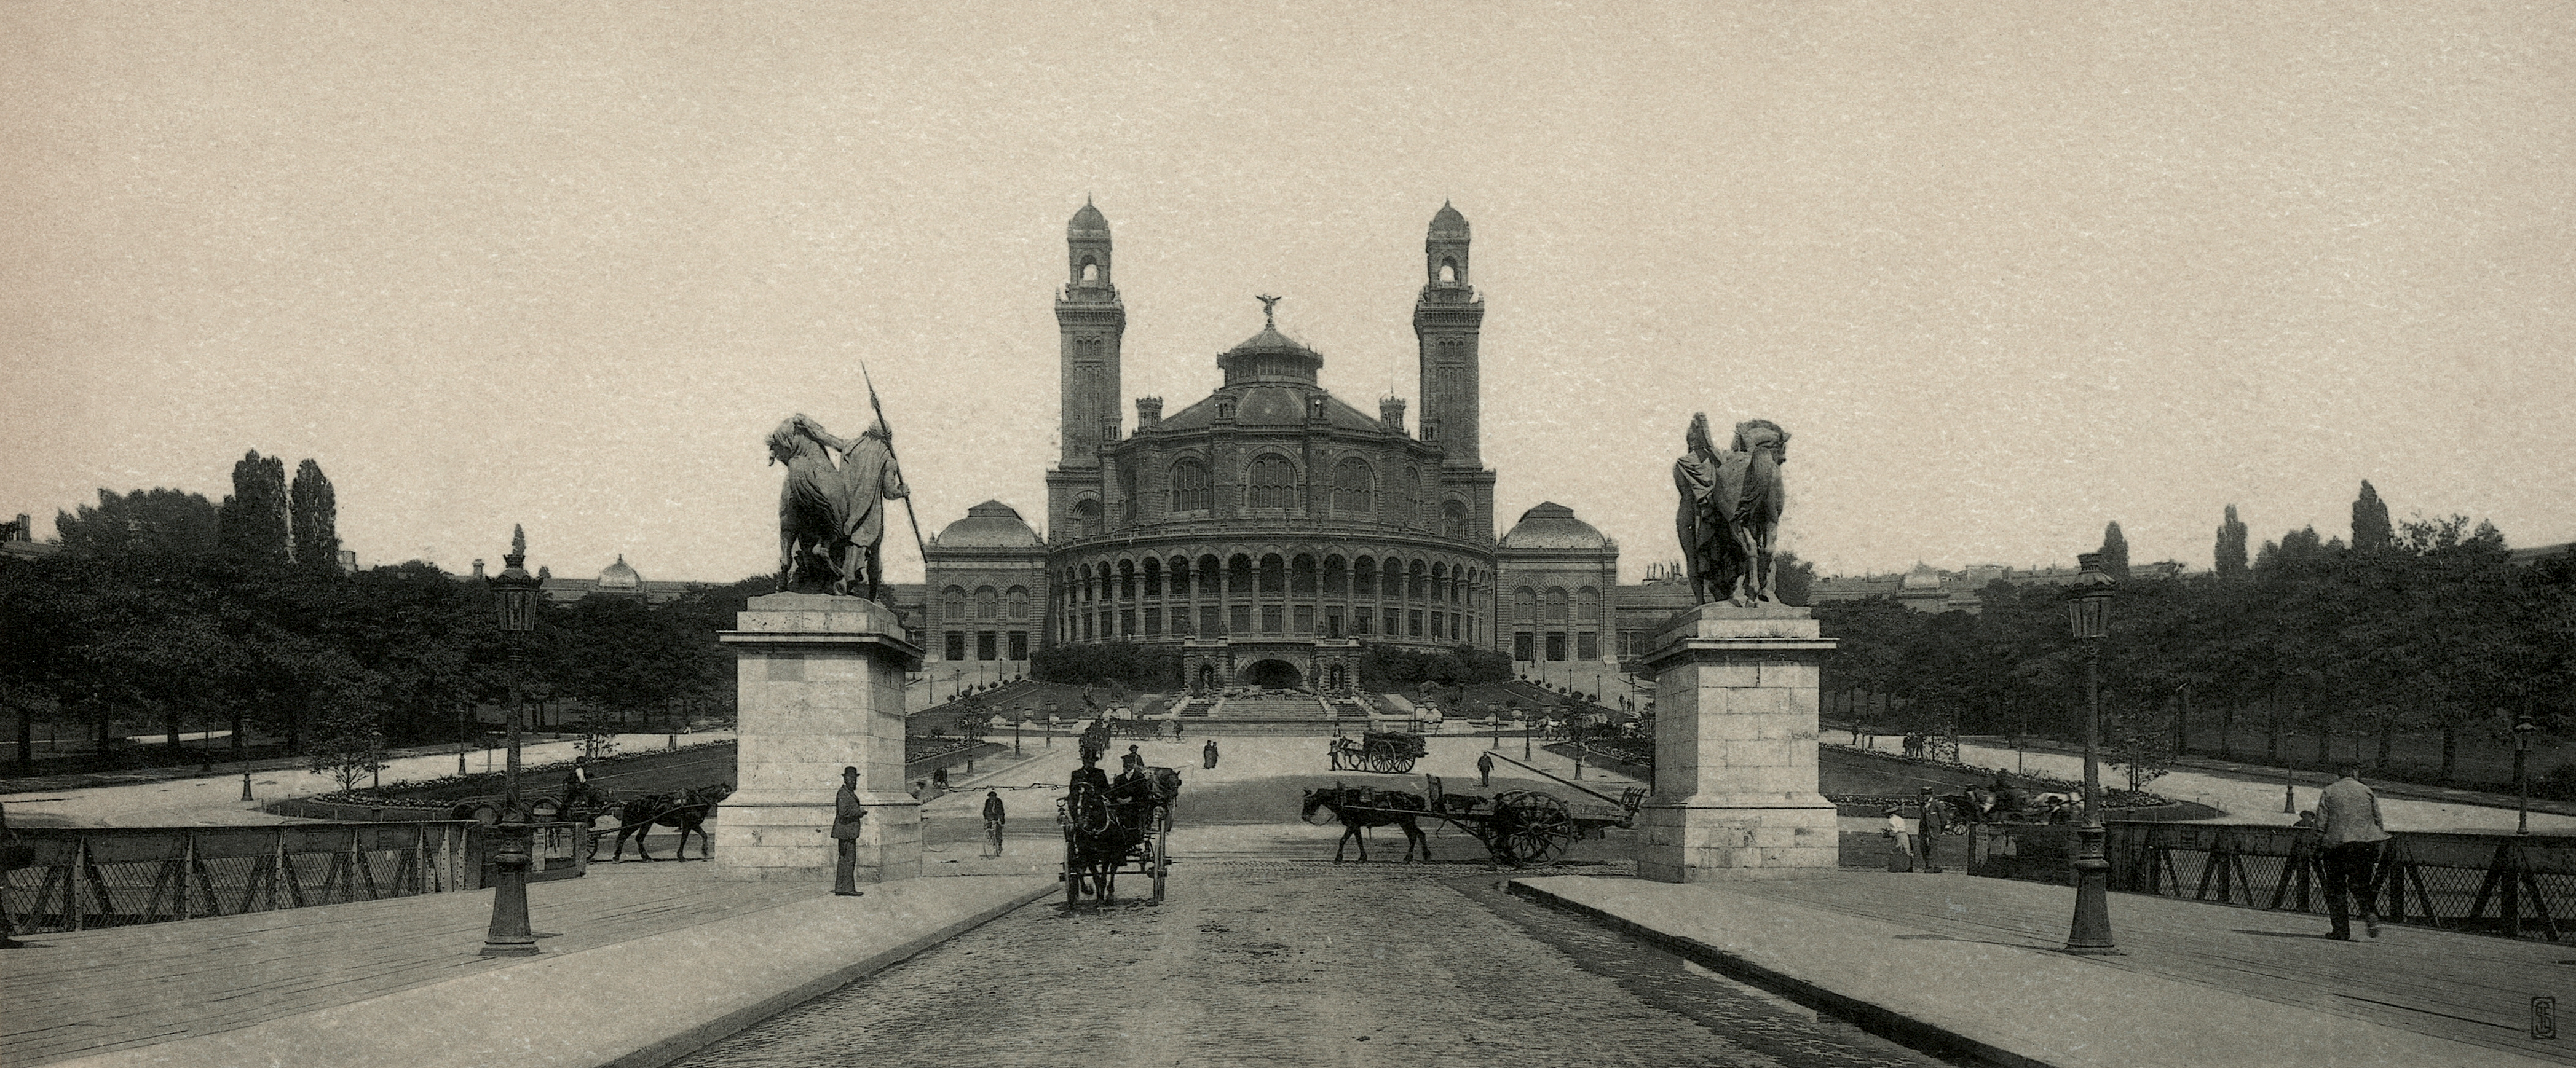
[[[1690,453],[1672,461],[1672,486],[1682,497],[1674,533],[1698,605],[1726,600],[1736,607],[1777,605],[1780,466],[1788,430],[1770,419],[1736,425],[1726,450],[1708,435],[1708,414],[1690,417]]]

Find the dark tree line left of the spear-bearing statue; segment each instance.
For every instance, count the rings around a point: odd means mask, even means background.
[[[54,517],[59,551],[0,558],[0,700],[18,762],[33,723],[93,733],[183,731],[281,739],[291,754],[461,741],[477,705],[533,700],[662,721],[670,708],[732,713],[732,656],[716,643],[770,579],[639,597],[541,597],[513,649],[492,592],[410,561],[340,566],[337,504],[322,466],[294,481],[250,453],[224,502],[180,489],[100,489]]]

